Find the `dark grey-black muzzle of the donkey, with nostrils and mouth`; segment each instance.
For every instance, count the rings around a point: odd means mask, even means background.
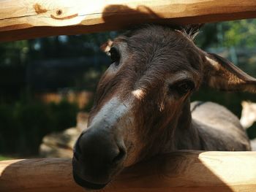
[[[89,128],[74,147],[73,177],[84,188],[99,189],[122,169],[127,151],[124,141],[110,130]]]

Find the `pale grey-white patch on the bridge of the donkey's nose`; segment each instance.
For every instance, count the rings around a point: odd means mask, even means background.
[[[91,120],[91,125],[94,123],[105,123],[105,126],[113,126],[118,123],[121,117],[129,112],[130,104],[128,101],[121,102],[116,97],[108,101],[101,110]],[[107,125],[106,125],[107,124]]]

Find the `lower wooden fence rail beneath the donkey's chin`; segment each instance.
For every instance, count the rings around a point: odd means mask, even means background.
[[[1,192],[83,191],[71,161],[42,158],[0,162]],[[105,191],[255,191],[256,152],[180,151],[130,167]]]

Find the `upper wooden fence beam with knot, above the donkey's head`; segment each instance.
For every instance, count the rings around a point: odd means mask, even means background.
[[[252,0],[1,0],[0,41],[256,18]]]

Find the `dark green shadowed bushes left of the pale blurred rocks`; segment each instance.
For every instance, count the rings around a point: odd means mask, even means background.
[[[0,105],[0,153],[37,154],[42,137],[75,126],[78,107],[61,101],[19,101]]]

